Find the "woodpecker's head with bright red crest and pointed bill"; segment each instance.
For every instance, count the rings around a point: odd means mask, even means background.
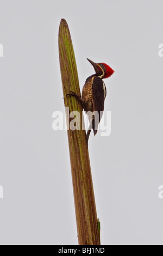
[[[92,64],[93,68],[95,69],[96,75],[102,79],[108,78],[114,73],[114,70],[112,70],[110,66],[108,66],[105,63],[95,63],[95,62],[92,62],[92,60],[90,59],[87,59],[87,60],[89,60],[89,62]]]

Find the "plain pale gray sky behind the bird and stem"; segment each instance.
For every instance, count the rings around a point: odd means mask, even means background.
[[[111,136],[89,141],[103,245],[163,245],[163,2],[0,0],[1,245],[77,245],[58,57],[70,28],[80,87],[86,58],[115,70],[105,80]]]

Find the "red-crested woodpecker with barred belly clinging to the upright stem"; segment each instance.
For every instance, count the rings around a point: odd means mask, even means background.
[[[114,70],[105,63],[95,63],[90,59],[87,60],[92,64],[96,73],[86,79],[82,90],[82,97],[72,91],[70,92],[71,94],[67,95],[75,96],[77,100],[82,102],[84,111],[89,118],[90,126],[86,134],[86,143],[88,145],[91,129],[93,129],[94,135],[96,135],[98,124],[104,111],[106,87],[103,79],[110,77]]]

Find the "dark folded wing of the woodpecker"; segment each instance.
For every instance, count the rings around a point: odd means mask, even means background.
[[[95,129],[94,134],[97,133],[98,124],[102,118],[102,113],[104,111],[104,101],[106,97],[106,87],[101,78],[95,76],[92,83],[92,102],[93,102],[93,110],[96,111],[97,115],[95,115]]]

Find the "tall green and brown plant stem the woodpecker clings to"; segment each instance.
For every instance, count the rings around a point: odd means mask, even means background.
[[[59,27],[59,59],[65,107],[69,107],[69,113],[66,114],[67,125],[69,127],[71,121],[69,114],[72,111],[80,113],[80,117],[77,119],[82,124],[83,109],[81,103],[73,96],[66,96],[70,90],[80,95],[80,88],[71,35],[64,19],[61,20]],[[79,245],[100,245],[85,130],[72,131],[69,129],[67,134]]]

